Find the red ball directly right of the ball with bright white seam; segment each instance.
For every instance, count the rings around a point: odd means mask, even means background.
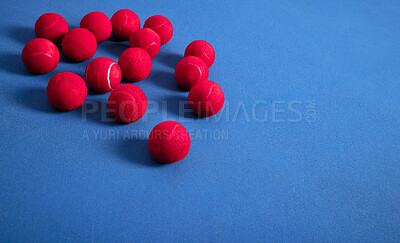
[[[122,52],[118,64],[121,67],[123,77],[133,82],[147,78],[152,67],[149,53],[138,47],[131,47]]]

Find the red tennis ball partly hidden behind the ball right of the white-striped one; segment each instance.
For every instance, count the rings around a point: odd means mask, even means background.
[[[140,47],[145,49],[151,58],[157,56],[161,47],[160,36],[152,29],[142,28],[131,35],[129,47]]]

